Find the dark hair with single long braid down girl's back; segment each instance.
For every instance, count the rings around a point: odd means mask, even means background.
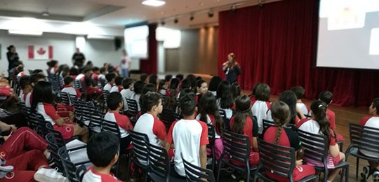
[[[286,103],[277,101],[271,106],[271,115],[274,120],[275,126],[277,126],[277,134],[275,134],[275,144],[279,144],[281,131],[290,119],[289,107]]]

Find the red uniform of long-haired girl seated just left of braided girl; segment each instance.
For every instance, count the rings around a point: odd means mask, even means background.
[[[233,125],[234,125],[234,117],[230,120],[229,126],[230,130],[232,132],[237,132],[233,131]],[[247,117],[245,120],[245,125],[244,125],[244,135],[248,136],[248,139],[250,139],[250,156],[248,158],[248,163],[253,166],[259,165],[259,153],[253,151],[253,137],[258,137],[258,123],[256,120],[253,120],[250,117]],[[234,165],[238,166],[246,166],[244,163],[239,162],[237,160],[231,159],[231,162],[234,163]]]

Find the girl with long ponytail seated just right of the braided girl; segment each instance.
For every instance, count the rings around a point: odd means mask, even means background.
[[[335,134],[335,131],[331,128],[331,123],[326,117],[327,108],[326,103],[321,100],[313,102],[311,104],[312,119],[302,119],[296,127],[305,132],[322,134],[328,137],[329,154],[326,158],[326,165],[328,169],[333,169],[328,174],[328,181],[333,181],[338,172],[340,172],[340,169],[334,169],[334,165],[345,160],[345,154],[340,152],[340,148],[337,144],[337,134]],[[312,160],[307,161],[307,163],[314,166],[324,166]]]

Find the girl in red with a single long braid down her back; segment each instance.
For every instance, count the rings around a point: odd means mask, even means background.
[[[291,119],[291,111],[284,102],[277,101],[271,106],[272,119],[274,126],[267,128],[263,134],[263,140],[279,146],[292,147],[295,151],[301,150],[301,143],[298,134],[291,129],[286,128],[287,123]],[[296,160],[296,167],[293,169],[293,181],[299,181],[314,174],[314,167],[310,165],[302,165],[302,159]],[[270,179],[275,181],[289,181],[282,176],[266,172]]]

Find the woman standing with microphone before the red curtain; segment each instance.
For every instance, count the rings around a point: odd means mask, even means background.
[[[233,52],[227,55],[227,62],[222,64],[222,71],[225,72],[225,80],[229,83],[237,82],[238,76],[241,74],[241,67],[236,62],[236,55]]]

